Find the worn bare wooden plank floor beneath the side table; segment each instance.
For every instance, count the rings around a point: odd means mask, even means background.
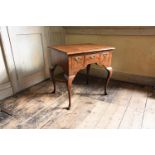
[[[0,128],[155,128],[155,91],[151,87],[111,80],[109,95],[104,80],[79,74],[73,83],[72,108],[66,85],[50,80],[1,101]]]

